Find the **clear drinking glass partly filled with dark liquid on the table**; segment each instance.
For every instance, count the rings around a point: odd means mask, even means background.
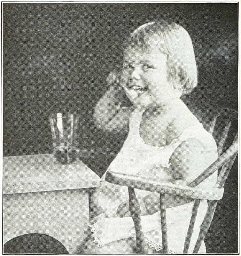
[[[55,113],[49,116],[56,163],[76,162],[77,132],[80,116],[76,113]]]

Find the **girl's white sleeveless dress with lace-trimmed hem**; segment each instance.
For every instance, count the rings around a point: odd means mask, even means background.
[[[165,179],[170,166],[169,159],[175,149],[185,140],[198,139],[215,159],[218,156],[217,146],[212,135],[197,124],[187,127],[178,139],[165,147],[145,144],[140,137],[139,129],[145,108],[136,108],[129,121],[129,133],[121,151],[117,154],[107,171],[127,173],[144,177]],[[213,159],[213,161],[215,160]],[[213,175],[217,175],[214,173]],[[137,197],[144,197],[152,193],[135,189]],[[91,197],[91,208],[99,215],[92,220],[91,232],[98,247],[120,239],[135,236],[134,223],[131,217],[119,218],[116,215],[118,206],[128,200],[128,188],[105,181],[105,174],[101,178],[101,186]],[[167,241],[169,253],[182,253],[187,234],[194,201],[173,208],[166,209]],[[193,235],[188,253],[194,249],[199,226],[207,211],[207,202],[201,200]],[[160,211],[152,215],[141,216],[141,223],[147,244],[159,251],[162,246]],[[199,253],[206,253],[205,244]]]

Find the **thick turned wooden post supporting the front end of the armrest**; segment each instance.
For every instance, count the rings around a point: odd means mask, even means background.
[[[136,230],[136,249],[137,253],[146,254],[148,247],[145,241],[145,237],[143,234],[142,226],[141,226],[141,208],[138,200],[136,198],[136,194],[134,188],[128,187],[129,192],[129,210],[131,217],[134,222],[135,230]]]

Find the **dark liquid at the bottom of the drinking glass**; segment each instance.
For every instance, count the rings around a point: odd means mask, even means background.
[[[72,164],[76,161],[76,148],[73,147],[56,147],[54,156],[59,164]]]

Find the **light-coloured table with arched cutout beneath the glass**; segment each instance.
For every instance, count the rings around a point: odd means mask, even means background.
[[[3,158],[4,243],[41,233],[79,253],[88,235],[88,188],[100,179],[80,160],[56,164],[53,154]]]

